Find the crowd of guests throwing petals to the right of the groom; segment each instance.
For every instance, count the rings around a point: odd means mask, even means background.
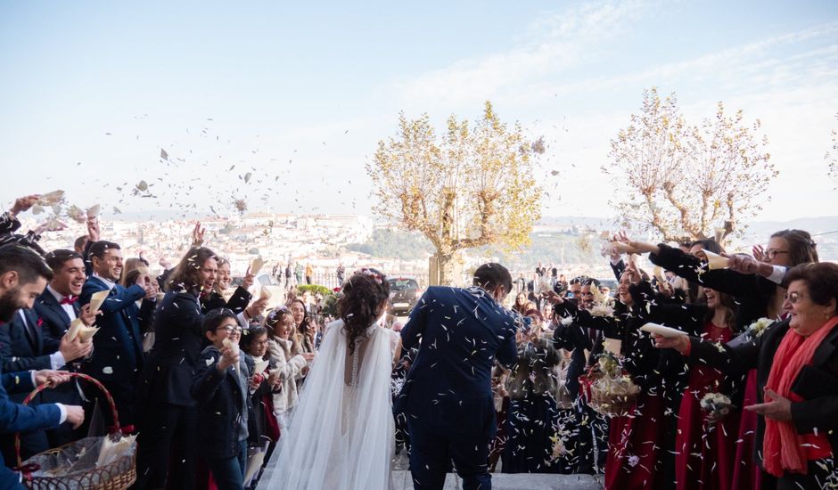
[[[774,233],[752,255],[622,235],[611,265],[614,298],[577,277],[543,292],[544,308],[515,299],[531,323],[518,364],[496,373],[503,471],[604,472],[606,488],[838,487],[838,265],[818,262],[809,233]],[[609,361],[636,388],[614,398],[630,404],[620,412],[591,403]]]

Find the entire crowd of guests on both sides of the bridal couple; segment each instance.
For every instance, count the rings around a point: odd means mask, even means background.
[[[230,264],[202,233],[156,277],[142,257],[103,239],[95,218],[73,249],[41,249],[38,233],[17,233],[17,215],[36,201],[21,198],[0,216],[0,363],[13,374],[0,388],[5,464],[15,466],[13,432],[26,460],[85,436],[85,413],[102,412],[107,426],[138,434],[137,488],[255,485],[316,357],[321,329],[310,303],[289,295],[267,310],[249,291],[251,274],[231,293]],[[708,256],[724,252],[712,240],[675,247],[615,237],[613,296],[596,279],[539,265],[511,306],[526,319],[518,363],[497,365],[493,377],[490,467],[604,473],[607,488],[838,485],[838,265],[819,263],[799,230],[711,268]],[[637,265],[643,254],[653,271]],[[291,264],[284,274],[292,277]],[[304,277],[306,268],[292,281]],[[70,341],[77,319],[100,330]],[[681,334],[650,335],[640,330],[648,323]],[[397,363],[394,394],[414,356],[407,350]],[[607,362],[637,388],[620,412],[592,403]],[[66,371],[102,382],[119,420]],[[55,388],[22,407],[43,382]],[[405,447],[406,424],[396,425]],[[0,473],[10,487],[17,478]]]

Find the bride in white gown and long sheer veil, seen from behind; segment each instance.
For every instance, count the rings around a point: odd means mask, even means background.
[[[390,372],[401,354],[398,333],[378,326],[390,297],[380,272],[362,269],[344,283],[341,319],[326,326],[280,437],[267,488],[392,488],[394,422]]]

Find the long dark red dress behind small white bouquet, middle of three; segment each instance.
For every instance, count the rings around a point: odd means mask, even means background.
[[[702,337],[711,342],[727,343],[732,337],[728,328],[708,322]],[[689,384],[678,411],[675,437],[675,477],[678,490],[730,490],[733,481],[739,410],[732,410],[715,424],[706,421],[702,397],[719,391],[721,372],[704,365],[690,368]]]

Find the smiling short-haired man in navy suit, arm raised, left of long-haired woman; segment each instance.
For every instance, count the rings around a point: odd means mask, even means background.
[[[93,356],[82,369],[111,392],[119,421],[109,422],[119,423],[124,431],[130,432],[135,423],[136,379],[144,360],[143,331],[154,312],[155,292],[143,280],[130,288],[119,285],[122,250],[116,243],[96,241],[90,246],[90,261],[94,272],[82,288],[81,303],[90,303],[94,293],[110,292],[99,308],[102,314],[96,325],[100,331],[93,338]],[[143,299],[142,306],[136,306],[140,299]],[[110,418],[110,413],[105,412],[106,418]]]

